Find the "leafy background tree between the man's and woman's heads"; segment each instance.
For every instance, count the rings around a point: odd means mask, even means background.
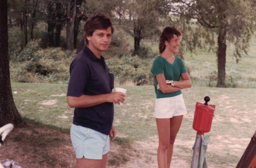
[[[134,39],[134,53],[140,49],[142,39],[159,32],[160,4],[158,0],[124,0],[116,7],[119,24]]]

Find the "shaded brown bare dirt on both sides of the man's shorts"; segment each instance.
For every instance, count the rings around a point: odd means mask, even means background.
[[[23,118],[19,127],[10,134],[15,148],[19,150],[21,158],[27,158],[28,163],[46,165],[46,167],[71,167],[74,166],[76,158],[71,140],[70,129],[63,129],[53,125],[46,125],[40,121]],[[129,149],[132,140],[123,137],[116,137],[110,141],[108,152],[108,165],[119,166],[129,161]],[[17,147],[16,147],[17,146]],[[65,158],[63,153],[72,155]],[[24,166],[27,167],[27,166]]]

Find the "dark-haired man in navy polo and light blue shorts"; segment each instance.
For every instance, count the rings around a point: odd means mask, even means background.
[[[70,130],[77,168],[105,168],[109,137],[115,138],[113,103],[125,95],[112,92],[114,75],[101,56],[108,49],[114,29],[110,18],[96,13],[84,24],[86,46],[70,65],[68,106],[74,118]]]

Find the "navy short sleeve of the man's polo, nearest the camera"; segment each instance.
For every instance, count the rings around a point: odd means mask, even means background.
[[[70,79],[67,96],[80,97],[89,79],[90,69],[83,61],[72,62],[70,65]]]

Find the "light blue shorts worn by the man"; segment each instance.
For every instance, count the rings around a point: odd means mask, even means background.
[[[70,137],[77,159],[102,159],[109,151],[109,135],[93,129],[72,124]]]

